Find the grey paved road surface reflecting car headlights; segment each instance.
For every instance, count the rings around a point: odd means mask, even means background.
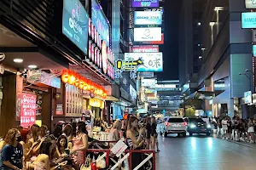
[[[206,136],[159,137],[157,170],[255,170],[256,150]]]

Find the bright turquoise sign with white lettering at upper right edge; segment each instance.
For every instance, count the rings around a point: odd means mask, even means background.
[[[256,28],[256,12],[241,13],[241,28]]]

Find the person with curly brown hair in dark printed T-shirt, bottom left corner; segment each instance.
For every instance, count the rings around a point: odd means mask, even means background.
[[[23,167],[22,156],[23,149],[20,144],[20,131],[12,128],[6,134],[4,141],[6,142],[1,152],[0,169],[1,170],[20,170]]]

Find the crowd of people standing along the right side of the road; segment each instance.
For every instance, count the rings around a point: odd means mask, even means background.
[[[251,117],[242,119],[239,116],[214,117],[212,124],[217,130],[218,137],[248,143],[255,143],[256,120]]]

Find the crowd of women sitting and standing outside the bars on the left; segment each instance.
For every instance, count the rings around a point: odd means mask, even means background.
[[[156,126],[154,117],[139,122],[136,116],[128,115],[125,120],[113,122],[109,140],[124,139],[132,150],[155,150],[156,145],[160,151]],[[92,141],[84,122],[58,124],[52,133],[37,124],[11,128],[0,142],[0,170],[80,169]],[[143,160],[142,154],[131,157],[132,167]]]

